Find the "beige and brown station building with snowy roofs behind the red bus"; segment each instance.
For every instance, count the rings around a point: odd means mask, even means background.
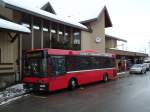
[[[95,17],[74,22],[57,15],[49,2],[38,8],[23,0],[0,0],[0,18],[0,88],[21,80],[26,50],[91,49],[117,54],[110,48],[116,48],[117,41],[126,42],[105,34],[105,28],[112,27],[106,6]]]

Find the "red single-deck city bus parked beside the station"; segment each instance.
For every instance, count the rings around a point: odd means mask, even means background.
[[[92,50],[37,49],[28,51],[23,82],[33,91],[55,91],[114,79],[115,57]]]

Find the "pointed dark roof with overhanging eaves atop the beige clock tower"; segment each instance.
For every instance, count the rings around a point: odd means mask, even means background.
[[[102,16],[102,14],[105,15],[105,28],[112,27],[113,25],[112,25],[112,22],[111,22],[111,19],[110,19],[110,16],[109,16],[106,6],[104,6],[104,8],[101,10],[101,12],[99,13],[99,15],[97,17],[88,19],[88,20],[84,20],[84,21],[80,21],[80,23],[86,24],[86,23],[97,21],[98,18],[100,18]]]

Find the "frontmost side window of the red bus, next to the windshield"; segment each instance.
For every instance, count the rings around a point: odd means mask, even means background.
[[[64,75],[66,73],[65,57],[64,56],[51,56],[51,74],[53,76]]]

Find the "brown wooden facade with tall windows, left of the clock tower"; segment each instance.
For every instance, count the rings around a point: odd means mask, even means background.
[[[48,7],[51,8],[50,5]],[[46,11],[49,10],[46,8]],[[82,28],[72,23],[51,20],[8,4],[0,5],[0,17],[18,24],[26,24],[31,30],[31,34],[23,34],[0,29],[0,88],[5,83],[21,80],[22,53],[28,49],[81,49]]]

